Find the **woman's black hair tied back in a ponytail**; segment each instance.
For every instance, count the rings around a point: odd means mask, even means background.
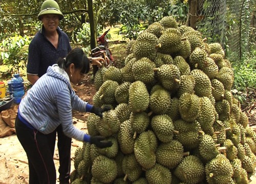
[[[76,69],[82,69],[81,73],[83,74],[87,74],[90,71],[90,61],[80,48],[72,49],[66,58],[59,58],[57,63],[64,70],[73,63]]]

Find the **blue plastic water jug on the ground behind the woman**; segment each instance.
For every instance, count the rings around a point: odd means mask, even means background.
[[[19,104],[22,101],[22,97],[25,95],[23,78],[19,74],[14,74],[11,80],[13,102]]]

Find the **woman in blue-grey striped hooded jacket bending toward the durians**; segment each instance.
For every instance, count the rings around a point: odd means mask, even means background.
[[[92,64],[101,65],[103,58],[91,59]],[[48,67],[19,104],[15,121],[19,142],[27,153],[29,183],[56,183],[52,146],[46,134],[61,124],[63,132],[78,141],[95,144],[99,148],[112,146],[102,136],[90,136],[73,125],[72,110],[92,112],[102,117],[109,107],[95,107],[82,101],[72,89],[90,70],[90,61],[80,48],[75,48],[58,64]]]

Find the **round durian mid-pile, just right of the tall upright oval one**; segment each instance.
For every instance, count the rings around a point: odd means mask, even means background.
[[[170,93],[168,90],[161,88],[155,90],[150,95],[150,108],[156,114],[166,114],[170,109]]]

